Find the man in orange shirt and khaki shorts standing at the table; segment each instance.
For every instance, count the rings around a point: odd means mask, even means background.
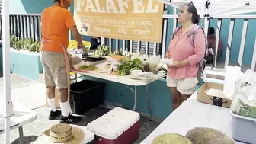
[[[41,15],[42,47],[41,62],[43,65],[46,95],[50,105],[49,120],[61,114],[61,123],[76,123],[80,117],[69,114],[69,60],[66,60],[66,47],[69,46],[69,30],[78,42],[78,48],[84,47],[71,12],[68,10],[72,0],[54,0],[54,5],[43,10]],[[55,87],[59,91],[61,112],[55,106]]]

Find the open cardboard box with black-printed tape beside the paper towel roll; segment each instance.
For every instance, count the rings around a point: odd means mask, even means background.
[[[205,82],[197,91],[197,101],[230,108],[232,99],[226,98],[223,94],[223,87],[222,84]]]

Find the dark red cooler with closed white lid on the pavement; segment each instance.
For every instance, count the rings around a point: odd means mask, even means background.
[[[120,107],[87,125],[87,129],[98,136],[95,144],[132,144],[139,137],[139,127],[139,113]]]

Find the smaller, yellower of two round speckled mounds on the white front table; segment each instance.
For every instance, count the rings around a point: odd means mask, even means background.
[[[185,136],[181,136],[177,133],[162,134],[152,141],[152,144],[193,144]],[[206,143],[205,143],[206,144]]]

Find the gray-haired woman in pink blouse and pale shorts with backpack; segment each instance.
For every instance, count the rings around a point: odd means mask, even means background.
[[[205,54],[205,35],[202,29],[198,29],[194,38],[194,46],[190,43],[190,33],[198,24],[200,16],[192,4],[185,4],[180,8],[178,23],[181,28],[174,35],[168,46],[166,57],[174,59],[174,65],[168,66],[166,78],[167,86],[171,91],[173,110],[181,105],[184,100],[194,94],[197,88],[197,63],[203,60]]]

